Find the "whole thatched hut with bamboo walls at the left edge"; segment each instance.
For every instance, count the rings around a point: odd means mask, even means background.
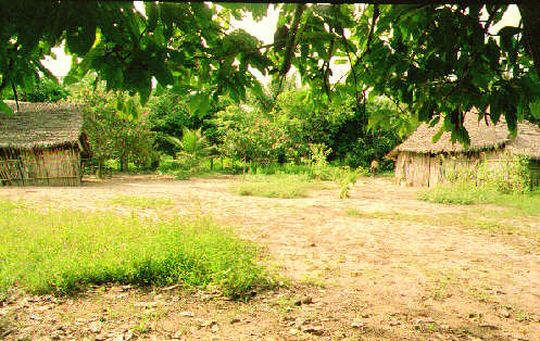
[[[0,185],[80,185],[81,154],[88,153],[82,125],[67,104],[19,102],[13,115],[0,112]]]

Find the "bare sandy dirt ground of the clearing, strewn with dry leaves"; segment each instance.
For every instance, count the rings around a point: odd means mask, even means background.
[[[497,207],[422,202],[417,189],[388,178],[362,178],[347,200],[331,186],[302,199],[238,196],[230,191],[238,181],[126,177],[79,188],[1,189],[4,199],[119,212],[125,208],[103,202],[118,195],[171,198],[168,213],[211,215],[261,245],[284,286],[254,293],[249,302],[121,286],[77,297],[14,295],[0,303],[0,334],[13,340],[540,340],[540,217],[493,223],[489,215]]]

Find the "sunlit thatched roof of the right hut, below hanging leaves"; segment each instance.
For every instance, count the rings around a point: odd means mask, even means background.
[[[441,128],[442,122],[433,127],[424,123],[407,139],[388,154],[395,159],[400,152],[421,154],[465,153],[470,151],[484,151],[505,148],[517,154],[540,159],[540,127],[523,120],[518,123],[517,136],[512,137],[503,118],[493,124],[489,119],[480,119],[476,112],[465,114],[463,125],[471,143],[465,147],[463,144],[452,143],[450,132],[444,132],[441,138],[433,143],[433,136]]]

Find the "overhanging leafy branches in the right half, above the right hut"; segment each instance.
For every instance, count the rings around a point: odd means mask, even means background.
[[[443,129],[464,143],[469,138],[463,114],[473,106],[481,117],[490,107],[493,122],[504,115],[512,132],[517,119],[538,110],[540,82],[533,60],[539,58],[532,34],[540,24],[531,18],[492,32],[508,6],[424,2],[368,5],[358,14],[352,5],[317,5],[295,19],[300,7],[286,5],[282,15],[284,22],[298,24],[291,63],[304,82],[328,98],[347,91],[360,104],[367,92],[385,95],[422,121],[442,119]],[[286,52],[277,58],[288,60]],[[328,82],[332,58],[351,65],[339,90]]]

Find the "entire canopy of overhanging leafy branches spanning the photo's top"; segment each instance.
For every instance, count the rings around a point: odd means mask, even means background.
[[[540,10],[520,4],[519,27],[492,32],[506,5],[456,3],[284,4],[278,41],[264,46],[230,31],[229,20],[246,12],[261,17],[265,4],[146,2],[143,15],[129,2],[5,0],[0,91],[48,75],[40,60],[65,41],[77,57],[67,81],[94,70],[108,89],[138,92],[143,102],[155,77],[204,113],[220,95],[239,101],[246,88],[260,92],[250,67],[275,75],[280,89],[295,66],[317,96],[346,91],[360,107],[368,91],[386,95],[422,121],[442,119],[465,143],[462,116],[473,106],[484,113],[489,105],[489,119],[504,115],[515,132],[516,121],[540,107]],[[351,66],[343,87],[329,81],[336,59]]]

